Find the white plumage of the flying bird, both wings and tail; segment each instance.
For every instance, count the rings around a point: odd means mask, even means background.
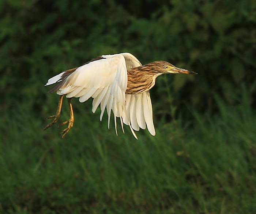
[[[58,74],[50,78],[46,85],[63,81],[57,94],[67,94],[68,98],[80,97],[80,102],[93,97],[93,113],[101,104],[100,120],[107,109],[108,128],[112,110],[116,133],[116,117],[120,117],[122,128],[123,122],[129,125],[135,137],[132,129],[139,131],[139,127],[145,129],[146,125],[151,135],[155,135],[149,92],[135,95],[125,94],[127,70],[141,66],[141,63],[129,53],[102,55],[102,57],[103,59],[78,67],[64,80],[61,80],[61,76],[65,72]]]

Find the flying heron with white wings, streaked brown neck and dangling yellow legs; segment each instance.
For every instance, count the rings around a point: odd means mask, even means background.
[[[178,68],[169,62],[155,61],[142,65],[132,54],[120,53],[102,55],[80,67],[69,69],[50,78],[45,86],[56,83],[48,93],[60,95],[56,114],[43,130],[54,125],[60,117],[63,97],[66,95],[69,106],[69,120],[60,123],[68,124],[61,134],[64,137],[74,124],[72,97],[79,97],[80,102],[93,98],[92,111],[95,113],[100,105],[102,120],[105,109],[108,114],[108,128],[111,112],[114,114],[114,125],[117,135],[117,121],[120,117],[121,127],[130,127],[133,136],[138,139],[135,131],[148,129],[155,135],[153,111],[149,90],[155,85],[155,79],[161,74],[197,74],[193,71]]]

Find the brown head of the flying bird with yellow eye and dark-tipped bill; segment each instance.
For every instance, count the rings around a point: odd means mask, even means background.
[[[150,65],[151,64],[151,65]],[[193,71],[189,71],[186,69],[180,69],[174,65],[172,65],[169,62],[165,62],[165,61],[156,61],[156,62],[152,62],[147,64],[148,66],[152,66],[154,71],[157,71],[158,73],[169,73],[169,74],[197,74]]]

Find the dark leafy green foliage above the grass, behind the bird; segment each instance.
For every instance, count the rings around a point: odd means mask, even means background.
[[[159,112],[170,105],[166,81],[172,105],[182,109],[188,102],[202,112],[217,109],[214,93],[235,104],[241,84],[250,88],[255,81],[253,0],[9,0],[1,3],[0,15],[0,92],[6,108],[28,96],[41,103],[47,90],[41,86],[49,77],[124,51],[143,64],[166,60],[199,73],[159,77],[153,89]],[[250,90],[253,98],[255,87]]]

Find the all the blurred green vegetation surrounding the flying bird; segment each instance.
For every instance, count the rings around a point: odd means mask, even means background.
[[[0,213],[255,213],[255,24],[253,0],[1,1]],[[119,52],[199,73],[157,79],[156,136],[77,99],[42,132],[47,80]]]

